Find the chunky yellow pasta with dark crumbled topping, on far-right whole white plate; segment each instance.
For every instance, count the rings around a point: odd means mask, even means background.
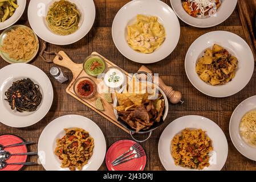
[[[206,49],[204,56],[198,59],[196,72],[204,82],[223,85],[235,77],[237,67],[237,57],[231,55],[225,48],[214,44],[212,49]]]

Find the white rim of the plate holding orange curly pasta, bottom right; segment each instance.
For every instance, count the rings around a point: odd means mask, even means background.
[[[192,118],[197,119],[197,121],[196,122],[191,122]],[[204,121],[202,121],[202,120],[204,120]],[[197,122],[200,122],[200,121],[202,121],[202,123],[200,123],[201,125],[198,126]],[[182,123],[182,125],[180,125],[180,122],[187,122],[187,125],[190,125],[190,126],[189,127],[185,126],[184,123]],[[204,168],[203,170],[198,170],[198,169],[189,169],[189,168],[184,168],[184,167],[176,166],[174,164],[174,160],[173,160],[173,157],[172,157],[172,154],[171,154],[171,144],[170,143],[171,143],[173,137],[176,134],[180,133],[185,128],[189,128],[189,129],[195,128],[195,129],[202,129],[203,131],[206,131],[205,129],[203,129],[203,127],[204,127],[203,125],[206,125],[207,122],[208,122],[208,125],[212,125],[211,127],[215,127],[215,129],[218,130],[218,132],[220,132],[219,134],[216,134],[216,135],[222,135],[221,138],[224,140],[223,144],[225,144],[224,147],[223,146],[222,147],[218,146],[219,150],[224,148],[224,152],[225,152],[225,154],[223,154],[223,153],[220,153],[220,151],[218,151],[218,153],[219,153],[218,155],[219,156],[220,155],[221,156],[225,155],[225,156],[223,156],[223,160],[221,160],[221,162],[218,165],[217,169],[210,169],[210,167],[207,167],[207,168]],[[192,124],[193,124],[193,126],[192,126]],[[175,133],[170,133],[172,131],[169,131],[169,129],[173,128],[174,125],[179,125],[178,127],[180,129],[179,129],[179,131],[175,131]],[[194,126],[194,125],[197,125],[197,126]],[[208,126],[208,127],[210,127],[210,126]],[[209,133],[212,132],[212,129],[213,128],[209,129],[209,131],[206,131],[206,135],[208,135],[210,137],[210,139],[213,141],[213,136],[212,136],[213,133],[209,135]],[[168,134],[168,137],[169,137],[168,139],[167,138],[166,139],[163,138],[165,133]],[[166,147],[168,146],[168,149],[165,147],[165,152],[168,152],[168,158],[169,159],[163,158],[162,155],[160,155],[161,153],[163,153],[161,148],[160,148],[161,147],[161,143],[164,142],[163,140],[168,140],[168,143],[169,143],[169,144],[165,144]],[[218,143],[218,142],[213,141],[213,151],[215,151],[214,150],[214,145],[216,146],[215,143]],[[160,139],[159,139],[159,144],[158,144],[158,152],[159,152],[159,158],[160,158],[160,161],[162,163],[162,166],[164,166],[164,168],[166,170],[170,170],[170,171],[177,171],[177,170],[178,171],[205,171],[205,170],[220,171],[224,167],[224,165],[226,163],[226,159],[227,159],[227,155],[228,155],[228,143],[227,143],[226,136],[225,136],[224,132],[222,131],[222,129],[220,128],[220,126],[218,126],[217,123],[213,122],[211,119],[206,118],[206,117],[202,117],[200,115],[185,115],[185,116],[177,118],[174,121],[172,121],[171,123],[169,123],[169,125],[165,127],[164,131],[162,131],[162,134],[161,134]],[[211,158],[210,158],[210,160],[211,160]],[[165,163],[168,163],[168,162],[172,163],[172,167],[171,167],[172,169],[170,169],[170,167],[166,166]],[[210,164],[210,166],[211,165],[212,164]]]

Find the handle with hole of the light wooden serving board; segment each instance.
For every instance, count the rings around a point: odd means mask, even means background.
[[[83,70],[83,64],[74,63],[63,51],[60,51],[59,55],[62,56],[63,59],[60,60],[59,56],[56,56],[54,58],[54,64],[70,69],[73,73],[73,79],[78,77],[81,70]]]

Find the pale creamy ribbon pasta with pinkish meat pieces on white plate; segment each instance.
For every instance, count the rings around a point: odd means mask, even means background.
[[[165,40],[165,28],[156,16],[137,15],[137,22],[127,30],[129,46],[141,53],[154,52]]]

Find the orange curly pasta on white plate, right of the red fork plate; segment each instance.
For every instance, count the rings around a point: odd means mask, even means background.
[[[209,152],[213,150],[212,141],[201,129],[184,129],[172,139],[174,163],[191,169],[209,167]]]

